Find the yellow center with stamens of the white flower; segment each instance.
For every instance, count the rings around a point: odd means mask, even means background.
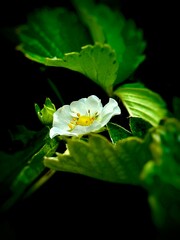
[[[90,116],[90,110],[88,110],[88,116],[81,116],[80,113],[77,113],[77,117],[74,117],[71,122],[68,124],[70,130],[73,130],[76,125],[80,126],[90,126],[94,120],[98,117],[98,113],[95,113],[94,116]]]

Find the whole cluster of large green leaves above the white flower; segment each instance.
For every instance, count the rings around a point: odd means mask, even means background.
[[[81,5],[83,2],[79,4],[78,13],[84,16],[95,42],[93,49],[90,49],[92,38],[88,29],[73,12],[64,8],[33,12],[27,24],[17,32],[21,41],[17,49],[27,58],[44,65],[78,71],[110,94],[111,90],[104,86],[107,85],[107,78],[110,78],[108,87],[122,82],[144,60],[142,31],[137,30],[132,21],[126,21],[121,13],[106,5],[93,5],[89,9],[81,8]],[[101,44],[101,52],[98,50],[93,54],[91,51],[100,46],[96,43]],[[83,56],[83,61],[80,56]]]

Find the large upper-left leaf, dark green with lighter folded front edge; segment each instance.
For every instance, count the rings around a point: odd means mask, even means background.
[[[87,29],[74,13],[62,8],[38,10],[20,28],[19,38],[22,44],[17,49],[29,59],[80,72],[112,93],[116,53],[108,44],[87,45],[91,42]]]

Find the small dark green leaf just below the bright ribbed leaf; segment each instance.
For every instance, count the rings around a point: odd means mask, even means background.
[[[134,136],[144,138],[152,125],[142,118],[131,117],[129,119],[130,129]]]

